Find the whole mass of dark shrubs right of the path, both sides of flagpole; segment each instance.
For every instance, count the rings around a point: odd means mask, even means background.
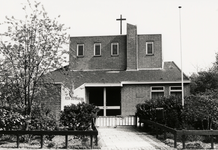
[[[151,99],[136,106],[137,115],[157,121],[156,108],[160,107],[164,109],[164,119],[158,121],[169,127],[202,130],[218,128],[218,102],[209,95],[185,97],[184,108],[181,99],[177,97]]]

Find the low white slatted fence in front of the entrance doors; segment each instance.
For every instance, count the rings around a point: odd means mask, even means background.
[[[130,116],[99,116],[95,125],[99,127],[109,126],[135,126],[137,124],[135,115]]]

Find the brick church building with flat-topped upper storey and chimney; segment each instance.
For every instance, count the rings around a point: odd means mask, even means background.
[[[62,86],[61,109],[84,101],[98,106],[99,116],[128,116],[146,100],[181,95],[181,70],[162,55],[161,34],[138,34],[131,24],[126,35],[71,37],[69,72],[54,71],[56,83],[68,78],[73,87]],[[186,96],[190,80],[183,81]]]

